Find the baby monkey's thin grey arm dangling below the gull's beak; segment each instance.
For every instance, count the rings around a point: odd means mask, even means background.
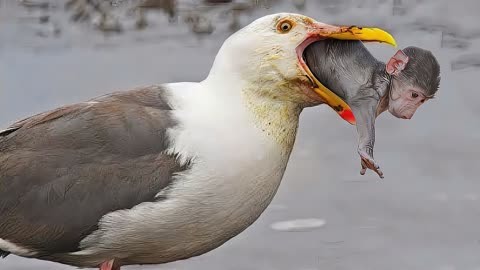
[[[373,147],[375,145],[375,118],[379,100],[373,96],[363,96],[351,102],[356,119],[358,133],[358,154],[361,158],[362,169],[360,174],[365,174],[367,168],[375,171],[380,178],[383,172],[373,158]]]

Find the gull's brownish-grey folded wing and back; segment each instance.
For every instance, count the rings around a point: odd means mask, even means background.
[[[175,123],[164,95],[114,93],[0,132],[0,238],[72,252],[103,215],[155,200],[188,166],[165,154]]]

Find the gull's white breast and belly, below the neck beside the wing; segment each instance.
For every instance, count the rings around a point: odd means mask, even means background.
[[[169,130],[169,151],[192,159],[192,167],[159,194],[166,200],[104,216],[76,255],[112,253],[132,264],[198,255],[243,231],[271,202],[291,146],[266,136],[232,92],[218,96],[193,83],[169,88],[179,123]]]

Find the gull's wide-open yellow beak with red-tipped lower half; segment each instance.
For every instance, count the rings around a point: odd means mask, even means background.
[[[307,65],[304,52],[311,44],[327,38],[340,40],[359,40],[366,42],[383,42],[396,46],[395,39],[388,32],[379,28],[357,27],[357,26],[332,26],[326,24],[318,24],[310,31],[308,37],[296,48],[298,63],[305,71],[305,74],[312,82],[312,90],[340,117],[350,124],[355,124],[355,116],[348,104],[337,94],[325,87],[313,74]]]

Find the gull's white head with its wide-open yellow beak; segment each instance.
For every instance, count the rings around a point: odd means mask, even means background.
[[[305,64],[304,49],[326,38],[395,44],[377,28],[333,26],[300,14],[278,13],[255,20],[229,37],[220,49],[209,79],[220,78],[259,96],[312,106],[327,103],[345,120],[348,105],[326,89]]]

